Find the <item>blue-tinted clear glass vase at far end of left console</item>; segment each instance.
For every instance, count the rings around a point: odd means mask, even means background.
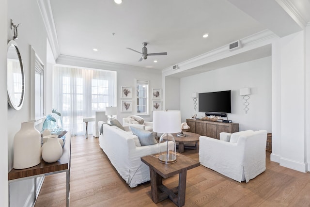
[[[47,115],[46,120],[43,123],[42,131],[45,129],[49,129],[50,133],[60,135],[62,134],[62,118],[61,113],[58,112],[56,109],[52,109],[52,113]]]

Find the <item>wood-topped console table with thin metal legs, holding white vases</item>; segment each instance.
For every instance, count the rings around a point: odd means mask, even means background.
[[[71,160],[71,133],[65,134],[65,143],[62,150],[62,157],[53,163],[47,163],[41,159],[41,163],[26,169],[12,169],[8,174],[9,181],[9,202],[10,202],[10,184],[13,182],[34,178],[33,202],[37,199],[36,179],[37,177],[53,175],[57,173],[66,173],[66,207],[69,207],[70,198],[70,160]],[[9,203],[10,206],[10,203]]]

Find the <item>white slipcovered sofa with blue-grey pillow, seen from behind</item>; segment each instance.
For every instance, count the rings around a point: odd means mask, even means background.
[[[126,130],[124,131],[104,123],[102,121],[98,123],[101,130],[99,145],[117,172],[131,188],[149,181],[150,169],[140,158],[157,154],[158,147],[166,147],[165,143],[141,146],[139,138],[130,131],[128,126],[124,126]]]

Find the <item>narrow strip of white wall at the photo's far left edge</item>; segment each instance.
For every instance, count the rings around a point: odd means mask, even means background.
[[[3,207],[8,206],[8,138],[7,138],[7,0],[1,1],[0,6],[0,201]]]

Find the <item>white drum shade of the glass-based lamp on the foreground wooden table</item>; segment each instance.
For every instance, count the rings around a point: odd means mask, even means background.
[[[177,133],[181,130],[181,111],[154,111],[153,131],[158,133]]]

